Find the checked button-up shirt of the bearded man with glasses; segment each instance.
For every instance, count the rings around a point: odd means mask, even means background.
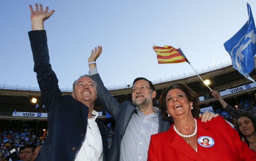
[[[147,160],[150,137],[159,127],[159,109],[153,108],[156,113],[145,115],[136,107],[121,141],[120,161]]]

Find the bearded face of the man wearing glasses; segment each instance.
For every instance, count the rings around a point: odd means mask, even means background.
[[[137,88],[137,90],[132,92],[132,102],[137,107],[153,106],[156,91],[152,91],[149,87],[149,82],[143,79],[134,83],[133,88]]]

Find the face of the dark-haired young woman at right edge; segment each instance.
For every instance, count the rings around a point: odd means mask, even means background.
[[[242,116],[237,119],[238,128],[241,131],[241,133],[249,137],[253,134],[255,134],[255,129],[252,123],[252,120],[248,117]]]

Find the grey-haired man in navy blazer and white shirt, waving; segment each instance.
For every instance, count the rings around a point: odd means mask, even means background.
[[[107,160],[107,128],[96,119],[98,112],[93,110],[97,98],[96,83],[88,75],[83,75],[74,82],[72,96],[62,96],[50,64],[44,30],[44,21],[54,10],[48,12],[46,7],[43,11],[41,4],[39,8],[35,4],[35,11],[31,5],[29,8],[34,71],[48,111],[48,137],[36,161]]]

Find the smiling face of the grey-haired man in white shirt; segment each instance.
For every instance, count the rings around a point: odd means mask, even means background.
[[[74,84],[74,91],[72,96],[76,101],[95,102],[97,98],[97,91],[94,81],[90,77],[81,77]]]

